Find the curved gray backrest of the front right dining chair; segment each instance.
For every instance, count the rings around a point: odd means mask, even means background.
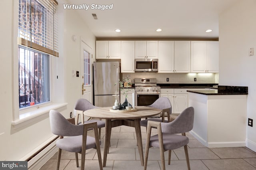
[[[192,130],[194,125],[194,107],[188,107],[172,122],[161,123],[163,133],[185,133]]]

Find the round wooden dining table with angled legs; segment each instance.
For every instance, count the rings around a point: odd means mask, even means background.
[[[112,127],[121,125],[134,127],[137,136],[138,151],[140,153],[140,162],[144,166],[144,157],[142,150],[142,138],[140,130],[141,118],[152,117],[162,112],[160,109],[153,107],[137,106],[136,111],[125,112],[110,111],[112,107],[99,107],[84,111],[84,115],[92,118],[105,119],[105,136],[104,136],[104,154],[103,154],[103,167],[106,166],[107,154],[110,144],[110,136]]]

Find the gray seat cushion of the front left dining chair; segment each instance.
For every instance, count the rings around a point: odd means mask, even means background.
[[[101,144],[101,141],[99,141]],[[56,141],[56,146],[68,152],[82,152],[82,135],[70,136]],[[86,149],[96,148],[95,138],[87,136]]]

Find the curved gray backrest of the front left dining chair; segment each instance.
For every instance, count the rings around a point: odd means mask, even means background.
[[[50,110],[49,116],[53,134],[59,136],[78,136],[83,134],[83,125],[73,125],[58,111]]]

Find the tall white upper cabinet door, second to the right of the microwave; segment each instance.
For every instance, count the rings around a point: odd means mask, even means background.
[[[190,41],[174,42],[174,72],[190,73]]]

